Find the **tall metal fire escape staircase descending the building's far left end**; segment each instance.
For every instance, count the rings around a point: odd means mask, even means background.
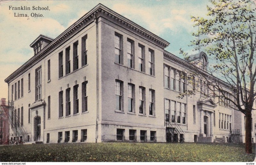
[[[4,110],[4,113],[7,116],[9,123],[11,124],[12,132],[17,138],[16,140],[18,140],[18,143],[26,142],[27,133],[25,132],[23,126],[21,126],[20,120],[18,119],[17,114],[14,111],[13,101],[1,101],[0,107],[2,107],[2,109]]]

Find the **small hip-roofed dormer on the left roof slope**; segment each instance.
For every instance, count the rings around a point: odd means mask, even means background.
[[[41,50],[43,50],[44,47],[50,44],[52,41],[53,41],[52,38],[40,34],[39,37],[37,37],[37,39],[34,40],[32,44],[30,44],[30,47],[34,49],[34,55],[36,55]]]

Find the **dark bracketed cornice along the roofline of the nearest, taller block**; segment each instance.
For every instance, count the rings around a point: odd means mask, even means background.
[[[102,4],[98,4],[91,11],[86,13],[82,18],[77,20],[73,25],[68,27],[67,30],[62,32],[57,38],[55,38],[49,45],[47,45],[43,50],[41,50],[38,54],[30,58],[25,64],[23,64],[20,68],[14,71],[11,75],[9,75],[4,82],[10,83],[14,78],[28,70],[33,64],[40,61],[42,58],[50,54],[55,48],[59,47],[66,40],[71,38],[74,34],[81,31],[84,27],[91,24],[95,18],[99,18],[100,16],[107,16],[107,18],[116,20],[119,25],[129,28],[133,32],[139,34],[140,36],[146,38],[147,40],[157,44],[163,49],[167,47],[170,43],[156,36],[155,34],[149,32],[148,30],[142,28],[141,26],[135,24],[131,20],[117,14],[116,12],[110,10],[106,6]]]

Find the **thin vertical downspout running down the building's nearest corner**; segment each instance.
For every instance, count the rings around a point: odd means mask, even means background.
[[[99,120],[99,39],[98,39],[98,18],[96,13],[94,13],[94,21],[96,24],[96,57],[97,57],[97,76],[96,76],[96,88],[97,88],[97,111],[96,111],[96,132],[95,132],[95,142],[98,140],[98,120]]]

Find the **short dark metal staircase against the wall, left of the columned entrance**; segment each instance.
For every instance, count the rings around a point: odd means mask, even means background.
[[[184,132],[176,121],[174,123],[165,121],[164,126],[166,126],[167,142],[184,142]]]

